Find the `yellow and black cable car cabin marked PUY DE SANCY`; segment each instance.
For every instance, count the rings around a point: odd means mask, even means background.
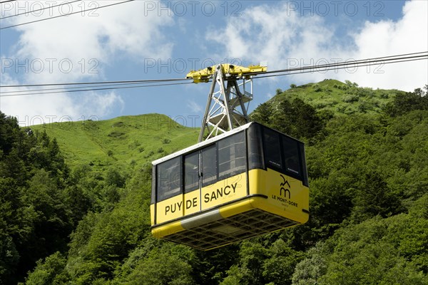
[[[304,145],[248,123],[153,162],[151,230],[197,249],[307,222]]]

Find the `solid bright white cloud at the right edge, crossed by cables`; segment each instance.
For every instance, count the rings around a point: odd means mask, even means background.
[[[366,22],[355,35],[358,58],[428,51],[427,11],[427,1],[407,1],[399,21]],[[377,72],[358,73],[355,78],[352,81],[362,86],[411,91],[428,83],[428,61],[393,63],[379,67]]]

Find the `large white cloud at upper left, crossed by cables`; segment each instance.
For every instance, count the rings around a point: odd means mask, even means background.
[[[21,7],[24,6],[23,2]],[[48,7],[53,1],[37,2]],[[170,57],[173,44],[163,36],[161,29],[172,25],[173,19],[168,13],[159,15],[157,11],[148,11],[145,2],[133,1],[86,11],[84,15],[78,13],[16,27],[18,43],[11,54],[0,55],[3,62],[8,61],[12,65],[10,68],[3,66],[1,85],[11,84],[12,78],[17,84],[102,81],[106,68],[120,65],[124,58],[143,62],[143,58]],[[19,5],[19,1],[12,3]],[[113,4],[113,1],[81,1],[72,4],[70,11],[106,4]],[[17,6],[9,7],[12,8],[10,14],[17,12]],[[30,8],[31,5],[27,6],[27,10]],[[63,11],[67,9],[63,8]],[[1,24],[9,26],[59,14],[58,8],[46,9],[38,15],[14,17]],[[25,67],[18,68],[16,72],[16,63]],[[118,93],[91,92],[78,96],[58,93],[2,97],[0,100],[2,112],[20,118],[35,115],[56,115],[61,118],[66,115],[78,119],[85,114],[103,117],[112,110],[123,109],[124,105]]]

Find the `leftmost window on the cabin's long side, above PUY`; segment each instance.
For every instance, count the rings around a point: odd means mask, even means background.
[[[158,202],[180,194],[182,184],[180,160],[181,157],[175,157],[158,165]]]

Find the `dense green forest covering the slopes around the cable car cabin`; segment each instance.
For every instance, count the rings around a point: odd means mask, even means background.
[[[253,120],[306,142],[310,221],[209,252],[151,236],[151,165],[69,167],[0,113],[0,284],[428,284],[427,89],[378,112],[287,91],[259,105]]]

